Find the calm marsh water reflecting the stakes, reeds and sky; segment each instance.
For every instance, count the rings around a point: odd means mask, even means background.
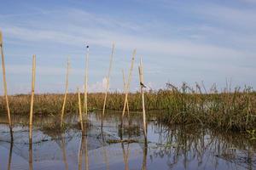
[[[27,116],[15,116],[14,142],[0,117],[0,169],[256,169],[256,141],[247,134],[195,126],[167,127],[152,116],[148,138],[140,113],[90,113],[82,134],[78,116],[35,116],[32,144]],[[123,142],[120,142],[123,141]]]

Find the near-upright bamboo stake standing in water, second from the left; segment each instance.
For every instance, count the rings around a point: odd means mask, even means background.
[[[32,93],[31,93],[31,105],[30,105],[30,117],[29,117],[29,139],[32,139],[32,121],[33,121],[33,104],[35,93],[35,78],[36,78],[36,55],[32,58]]]

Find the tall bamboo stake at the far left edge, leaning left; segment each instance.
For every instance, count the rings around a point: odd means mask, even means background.
[[[11,141],[13,141],[12,120],[11,120],[11,114],[10,114],[10,109],[9,109],[9,99],[8,99],[8,94],[7,94],[7,82],[6,82],[6,76],[5,76],[5,62],[4,62],[4,55],[3,55],[3,35],[2,35],[2,31],[0,31],[0,48],[1,48],[1,56],[2,56],[4,96],[5,96],[7,115],[8,115],[8,120],[9,120],[9,130],[10,130],[10,135],[11,135]]]

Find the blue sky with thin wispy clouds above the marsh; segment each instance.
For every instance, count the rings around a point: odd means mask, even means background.
[[[131,91],[137,91],[143,58],[149,88],[166,82],[213,83],[219,89],[256,88],[256,0],[0,0],[9,94],[31,90],[37,56],[36,93],[63,93],[67,58],[70,92],[83,87],[90,46],[89,92],[104,90],[115,43],[110,90],[122,91],[136,48]],[[0,94],[3,94],[1,70]]]

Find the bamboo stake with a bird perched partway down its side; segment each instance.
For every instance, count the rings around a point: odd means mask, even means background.
[[[143,127],[144,127],[144,134],[147,136],[147,122],[146,122],[146,111],[145,111],[145,101],[144,101],[144,79],[143,79],[143,59],[140,59],[140,65],[138,66],[139,77],[140,77],[140,88],[141,94],[143,99]]]

